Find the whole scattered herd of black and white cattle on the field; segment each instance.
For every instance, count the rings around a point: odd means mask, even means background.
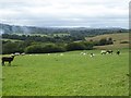
[[[112,54],[114,53],[114,51],[112,50],[102,50],[100,51],[100,54],[107,54],[107,53],[109,53],[109,54]],[[25,53],[13,53],[13,54],[11,54],[10,57],[2,57],[1,58],[1,61],[2,61],[2,65],[4,65],[4,62],[9,62],[9,65],[11,65],[11,62],[14,60],[14,57],[15,56],[25,56]],[[84,53],[84,52],[81,52],[81,54],[86,54],[86,53]],[[116,52],[116,54],[120,54],[120,51],[118,50],[117,52]],[[48,56],[49,56],[49,53],[48,53]],[[63,56],[63,53],[60,53],[60,56]],[[90,56],[91,57],[94,57],[95,54],[92,52],[92,53],[90,53]]]

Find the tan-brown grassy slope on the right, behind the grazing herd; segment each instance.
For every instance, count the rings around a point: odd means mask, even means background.
[[[111,37],[114,41],[114,45],[107,45],[107,46],[96,46],[96,49],[119,49],[119,48],[128,48],[129,44],[120,44],[121,41],[129,41],[129,34],[108,34],[108,35],[100,35],[96,37],[88,37],[86,40],[100,40],[102,38],[109,38]]]

